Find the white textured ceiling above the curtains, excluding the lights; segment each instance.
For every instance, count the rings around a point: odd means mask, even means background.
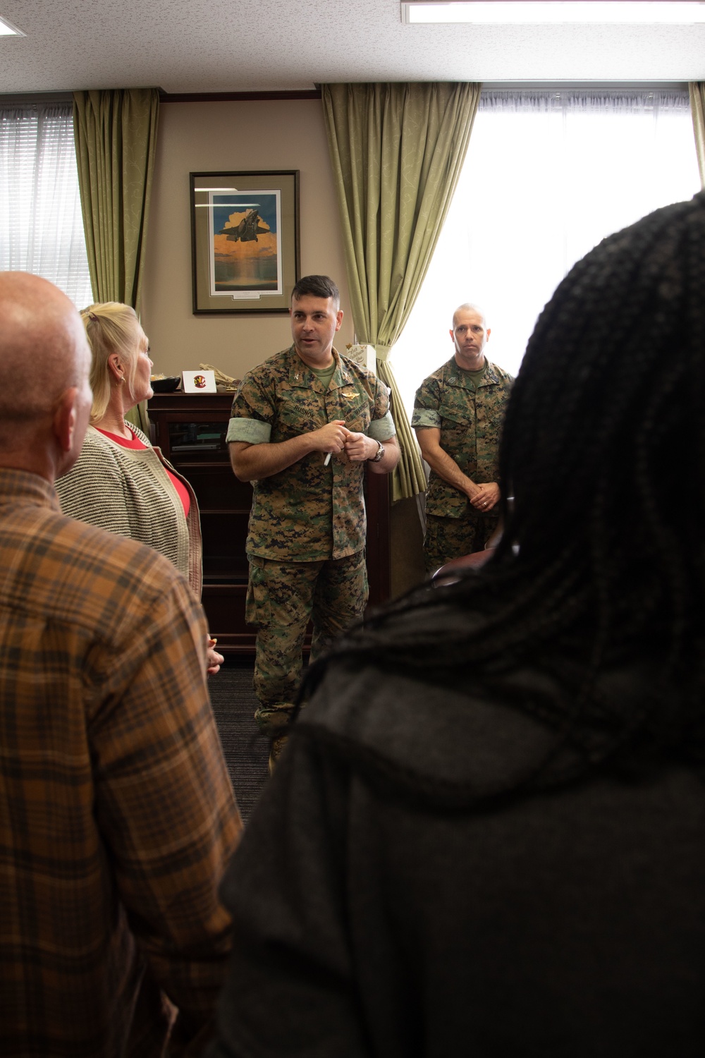
[[[404,25],[398,0],[0,0],[0,92],[705,79],[705,25]]]

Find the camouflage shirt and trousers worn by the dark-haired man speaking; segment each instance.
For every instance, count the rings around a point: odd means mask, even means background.
[[[386,386],[331,351],[327,387],[295,345],[249,371],[233,402],[227,440],[276,443],[335,420],[378,442],[393,437]],[[309,619],[313,660],[367,603],[365,462],[341,451],[324,463],[324,453],[311,452],[253,482],[246,620],[258,630],[255,718],[275,740],[294,709]]]

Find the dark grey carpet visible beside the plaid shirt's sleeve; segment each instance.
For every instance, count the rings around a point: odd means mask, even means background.
[[[208,680],[216,723],[240,813],[246,822],[267,780],[270,743],[254,713],[253,662],[226,661]]]

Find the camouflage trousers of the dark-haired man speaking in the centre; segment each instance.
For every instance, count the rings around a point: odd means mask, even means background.
[[[365,551],[319,562],[276,562],[251,555],[245,620],[257,627],[255,719],[277,738],[291,723],[301,681],[302,646],[313,621],[311,660],[356,620],[367,605]]]

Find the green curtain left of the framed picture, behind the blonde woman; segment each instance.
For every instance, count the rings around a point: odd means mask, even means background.
[[[137,315],[147,247],[160,95],[155,88],[74,92],[73,120],[86,249],[96,302]],[[147,433],[146,402],[128,418]]]

